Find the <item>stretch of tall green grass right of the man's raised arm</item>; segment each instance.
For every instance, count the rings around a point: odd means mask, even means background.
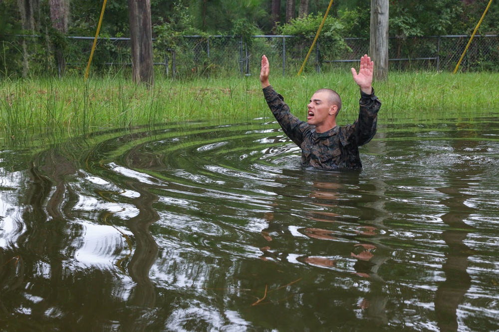
[[[499,83],[492,73],[394,73],[379,85],[379,96],[392,119],[446,119],[498,109]]]

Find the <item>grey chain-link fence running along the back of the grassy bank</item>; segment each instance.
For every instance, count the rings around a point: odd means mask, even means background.
[[[22,52],[23,63],[31,68],[53,66],[55,61],[37,39],[42,38],[18,36],[10,48],[19,53],[27,50]],[[453,71],[469,39],[467,35],[391,37],[389,69]],[[85,70],[93,40],[94,37],[67,37],[64,48],[67,72],[82,73]],[[170,48],[162,48],[153,41],[154,63],[157,74],[170,78],[250,76],[259,75],[261,55],[265,54],[274,73],[296,75],[312,41],[313,37],[283,35],[253,36],[247,41],[237,36],[184,36],[177,38],[175,46]],[[322,44],[319,37],[304,72],[350,68],[351,62],[357,62],[362,55],[369,53],[369,40],[365,38],[344,38],[339,44],[341,47],[322,47]],[[324,44],[331,45],[330,42]],[[130,70],[130,66],[130,38],[98,39],[92,59],[93,71],[114,73]],[[460,69],[499,71],[498,35],[475,36]]]

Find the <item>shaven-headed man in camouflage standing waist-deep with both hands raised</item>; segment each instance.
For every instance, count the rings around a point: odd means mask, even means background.
[[[284,133],[301,148],[301,164],[316,168],[361,168],[359,146],[369,142],[376,133],[376,122],[381,102],[372,88],[374,63],[364,55],[360,58],[357,74],[352,68],[353,80],[360,87],[359,118],[345,126],[336,125],[341,109],[340,96],[333,90],[320,89],[310,99],[307,121],[292,115],[284,98],[268,82],[269,65],[261,57],[260,82],[270,111]]]

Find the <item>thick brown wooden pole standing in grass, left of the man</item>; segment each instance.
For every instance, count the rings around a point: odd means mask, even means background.
[[[151,1],[128,0],[133,81],[154,85]]]

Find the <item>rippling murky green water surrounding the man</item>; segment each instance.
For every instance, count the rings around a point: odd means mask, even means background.
[[[270,119],[3,138],[0,331],[498,331],[498,118],[406,122],[361,172]]]

